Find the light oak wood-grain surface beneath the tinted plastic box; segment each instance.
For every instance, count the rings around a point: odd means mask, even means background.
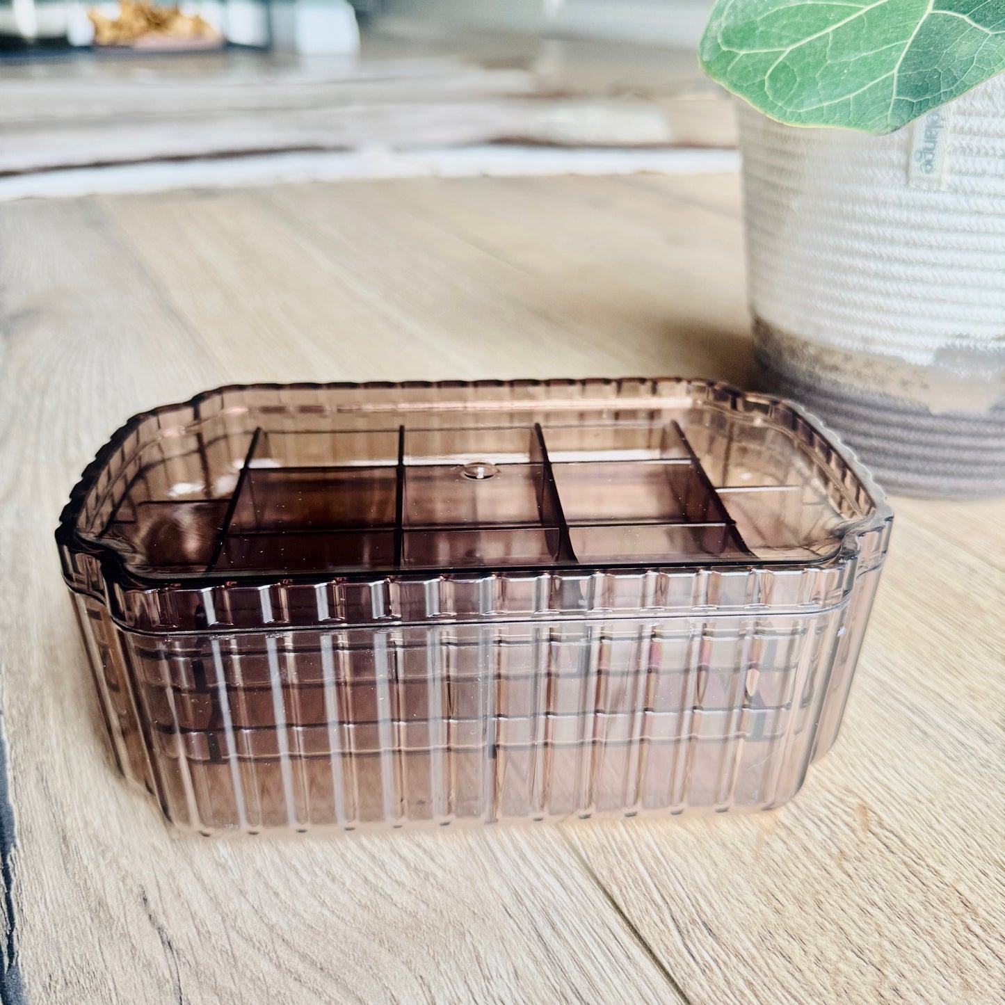
[[[1002,1001],[1000,501],[893,499],[842,736],[773,813],[212,841],[106,753],[52,531],[127,416],[234,381],[743,383],[735,178],[22,202],[0,247],[6,964],[33,1002]]]

